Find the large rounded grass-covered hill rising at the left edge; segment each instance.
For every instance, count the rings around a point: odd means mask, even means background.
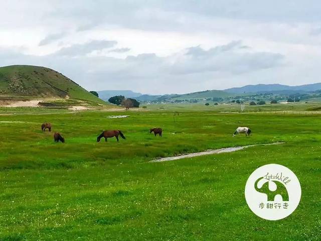
[[[0,97],[66,98],[105,103],[63,74],[31,65],[0,67]]]

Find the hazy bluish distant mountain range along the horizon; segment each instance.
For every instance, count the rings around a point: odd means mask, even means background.
[[[243,87],[229,88],[225,90],[205,90],[186,94],[165,94],[149,95],[132,92],[131,90],[104,90],[97,91],[99,97],[108,100],[114,95],[124,95],[125,97],[135,98],[138,101],[178,101],[190,99],[206,98],[233,98],[236,96],[248,96],[257,93],[273,93],[280,95],[290,95],[295,93],[308,93],[321,89],[321,83],[304,84],[304,85],[282,85],[282,84],[256,84],[245,85]]]

